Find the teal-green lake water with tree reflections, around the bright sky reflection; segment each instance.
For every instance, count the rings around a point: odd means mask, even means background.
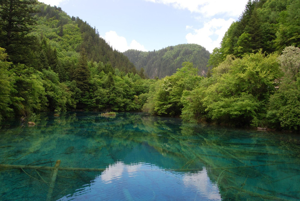
[[[1,129],[2,164],[39,161],[32,165],[51,166],[52,162],[53,166],[60,159],[61,167],[106,168],[118,161],[143,162],[194,175],[205,168],[224,200],[299,199],[296,136],[247,133],[134,113],[119,113],[112,119],[72,112],[40,116],[35,123]],[[1,194],[10,197],[15,193],[12,189],[35,187],[41,197],[46,196],[49,171],[25,171],[28,175],[5,170],[13,178],[0,175]],[[53,194],[56,199],[72,194],[100,174],[59,171]]]

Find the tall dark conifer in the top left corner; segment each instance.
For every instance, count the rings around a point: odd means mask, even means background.
[[[31,14],[37,12],[33,7],[37,3],[36,0],[0,1],[0,47],[7,50],[13,62],[24,63],[24,53],[28,53],[28,46],[35,41],[28,33],[35,23]]]

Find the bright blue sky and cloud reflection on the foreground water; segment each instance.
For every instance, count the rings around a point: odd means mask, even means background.
[[[221,200],[206,170],[184,173],[150,163],[116,162],[65,200]]]

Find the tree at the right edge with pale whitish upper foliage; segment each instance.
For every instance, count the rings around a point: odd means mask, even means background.
[[[284,72],[279,89],[270,98],[267,117],[275,128],[300,129],[300,49],[289,46],[278,62]]]

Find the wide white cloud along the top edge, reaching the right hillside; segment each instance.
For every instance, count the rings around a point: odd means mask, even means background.
[[[172,5],[177,9],[188,9],[192,13],[200,13],[205,17],[217,14],[226,14],[229,17],[238,17],[244,10],[247,0],[145,0],[153,3]]]

